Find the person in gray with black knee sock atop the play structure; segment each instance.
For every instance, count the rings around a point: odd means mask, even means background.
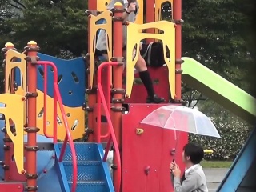
[[[107,6],[108,10],[112,10],[114,8],[114,4],[116,2],[121,2],[122,5],[125,8],[125,12],[123,13],[122,17],[124,18],[124,21],[134,22],[136,19],[136,16],[138,14],[138,2],[128,2],[127,0],[111,0],[109,5]],[[126,26],[124,25],[122,28],[122,45],[123,45],[123,55],[126,57]],[[108,60],[107,55],[107,47],[106,47],[106,30],[100,30],[98,34],[98,40],[96,43],[96,54],[104,56],[106,60]],[[129,57],[129,56],[128,56]],[[132,57],[132,55],[130,55]],[[164,98],[158,97],[157,94],[154,93],[154,87],[152,79],[150,78],[150,73],[147,70],[146,62],[144,58],[139,54],[138,55],[138,61],[135,64],[135,69],[138,71],[139,77],[141,78],[143,85],[146,88],[146,92],[148,94],[148,97],[146,98],[147,103],[160,103],[164,102]]]

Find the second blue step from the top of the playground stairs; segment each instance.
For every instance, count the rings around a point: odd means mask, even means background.
[[[63,162],[68,181],[73,179],[73,162]],[[104,179],[102,162],[78,162],[78,181],[94,181]]]

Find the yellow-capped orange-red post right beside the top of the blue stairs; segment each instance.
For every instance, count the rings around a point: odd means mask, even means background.
[[[122,69],[123,69],[123,57],[122,57],[122,13],[124,12],[124,8],[122,3],[117,2],[114,4],[114,17],[113,17],[113,58],[111,61],[120,62],[120,65],[113,66],[113,103],[114,106],[111,107],[113,112],[112,122],[114,126],[114,133],[117,138],[119,149],[121,149],[122,143],[122,113],[124,111],[122,107],[122,102],[124,101],[125,90],[122,88]],[[114,166],[117,162],[117,155],[114,153]],[[117,167],[117,169],[121,169],[121,167]],[[113,174],[114,179],[114,189],[115,191],[119,191],[118,189],[118,172],[114,171]]]

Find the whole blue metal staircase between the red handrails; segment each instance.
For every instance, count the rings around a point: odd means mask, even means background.
[[[57,154],[60,154],[62,143],[54,145]],[[103,149],[101,144],[90,142],[74,142],[77,157],[77,186],[76,192],[112,192],[114,186],[110,178],[110,171],[106,162],[102,162]],[[70,145],[67,144],[63,161],[59,164],[62,172],[63,187],[70,188],[73,184],[74,162]]]

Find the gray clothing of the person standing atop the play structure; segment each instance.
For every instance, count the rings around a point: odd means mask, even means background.
[[[122,5],[124,6],[124,8],[127,8],[127,6],[128,6],[127,0],[111,0],[109,5],[107,6],[107,9],[112,10],[114,8],[114,3],[116,3],[116,2],[121,2]],[[136,3],[137,3],[137,7],[138,7],[138,2],[136,1]],[[127,18],[127,21],[134,22],[137,14],[138,14],[138,11],[136,14],[134,14],[134,12],[130,13]],[[126,46],[126,26],[125,25],[122,26],[122,45]],[[97,50],[107,50],[106,49],[106,31],[105,30],[100,30],[100,32],[98,34],[96,49]]]

